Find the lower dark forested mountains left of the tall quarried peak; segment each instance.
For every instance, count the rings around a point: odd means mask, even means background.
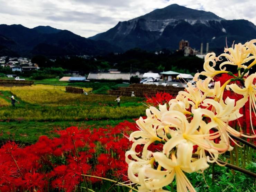
[[[121,51],[104,40],[87,39],[50,26],[29,29],[22,25],[0,25],[0,45],[0,55],[99,55]]]

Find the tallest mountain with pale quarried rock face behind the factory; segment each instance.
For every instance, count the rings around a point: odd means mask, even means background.
[[[223,49],[236,42],[256,38],[256,26],[247,20],[225,20],[212,12],[199,11],[178,4],[156,9],[144,16],[119,22],[115,27],[89,39],[106,40],[124,50],[139,47],[146,50],[178,49],[181,39],[192,48]],[[204,47],[205,48],[205,47]]]

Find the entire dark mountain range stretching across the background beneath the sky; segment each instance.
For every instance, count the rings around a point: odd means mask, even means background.
[[[226,20],[212,12],[171,4],[143,16],[120,21],[106,32],[84,38],[51,26],[32,29],[0,25],[0,55],[31,56],[101,55],[132,48],[147,51],[176,50],[181,39],[192,48],[209,43],[209,51],[222,50],[233,41],[245,43],[256,38],[256,26],[248,20]]]

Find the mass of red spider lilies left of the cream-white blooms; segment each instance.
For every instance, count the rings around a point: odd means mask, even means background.
[[[24,148],[8,141],[0,148],[0,191],[73,191],[84,180],[100,181],[81,174],[120,178],[127,174],[130,148],[124,135],[134,130],[135,123],[124,121],[105,129],[57,130],[59,138],[42,136]]]

